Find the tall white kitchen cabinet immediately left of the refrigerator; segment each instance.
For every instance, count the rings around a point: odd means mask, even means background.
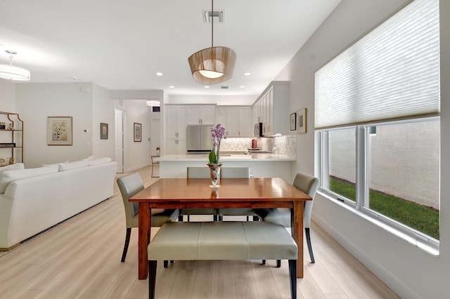
[[[167,140],[165,154],[186,154],[187,107],[166,106]]]

